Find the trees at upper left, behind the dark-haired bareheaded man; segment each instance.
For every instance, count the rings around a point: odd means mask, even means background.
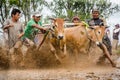
[[[11,8],[21,9],[25,22],[30,19],[30,14],[34,11],[42,11],[44,6],[48,6],[45,0],[1,0],[0,1],[0,23],[3,24],[8,18]]]

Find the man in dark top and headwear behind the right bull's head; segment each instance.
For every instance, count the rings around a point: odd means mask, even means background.
[[[100,13],[97,9],[92,10],[92,19],[88,20],[89,26],[92,26],[92,27],[94,27],[96,25],[106,26],[105,20],[100,19],[99,15],[100,15]],[[112,55],[112,46],[111,46],[110,39],[106,35],[104,35],[102,42],[107,47],[107,50],[109,51],[109,54]],[[99,62],[103,61],[104,59],[105,59],[105,55],[102,55],[99,58]]]

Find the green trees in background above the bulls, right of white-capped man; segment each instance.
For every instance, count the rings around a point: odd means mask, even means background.
[[[120,6],[113,6],[109,0],[53,0],[49,6],[56,17],[66,16],[71,19],[77,15],[82,20],[89,18],[91,10],[95,7],[106,18],[120,10]]]

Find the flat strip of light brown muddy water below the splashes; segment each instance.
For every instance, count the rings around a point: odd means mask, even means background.
[[[8,70],[0,71],[0,80],[120,80],[119,69],[106,69]]]

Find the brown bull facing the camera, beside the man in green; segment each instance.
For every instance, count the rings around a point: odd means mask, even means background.
[[[48,33],[48,44],[50,45],[52,53],[55,55],[57,61],[61,63],[60,58],[57,55],[56,50],[63,51],[66,55],[66,42],[64,35],[64,19],[56,18],[52,19],[53,23]]]

